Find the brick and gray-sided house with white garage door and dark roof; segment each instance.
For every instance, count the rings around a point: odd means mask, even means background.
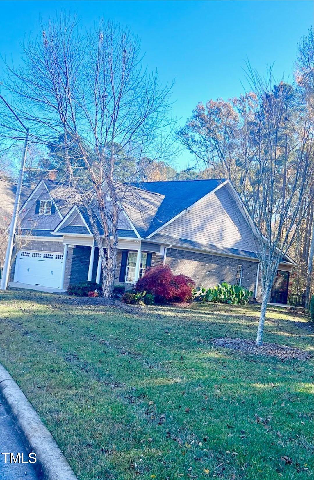
[[[197,286],[226,281],[260,298],[256,241],[229,180],[141,182],[133,188],[138,200],[122,203],[118,222],[116,283],[131,287],[147,267],[167,264]],[[70,284],[100,281],[89,217],[69,186],[40,181],[19,216],[19,237],[27,241],[12,266],[12,285],[63,291]],[[97,212],[95,220],[101,228]],[[282,260],[275,293],[288,292],[294,264],[288,256]]]

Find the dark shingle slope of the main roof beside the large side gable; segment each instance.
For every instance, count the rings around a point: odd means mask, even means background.
[[[140,222],[134,222],[141,235],[145,232],[145,237],[150,235],[157,228],[162,227],[179,213],[183,212],[189,206],[195,204],[202,197],[212,192],[224,180],[171,180],[171,181],[149,181],[133,183],[135,187],[144,192],[152,192],[156,195],[156,201],[159,203],[155,216],[151,217],[149,227],[140,225]],[[133,221],[133,219],[131,218]],[[147,224],[147,222],[146,222]]]

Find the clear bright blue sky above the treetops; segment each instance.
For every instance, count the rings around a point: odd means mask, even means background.
[[[199,101],[243,92],[244,62],[259,72],[275,62],[292,77],[297,43],[313,24],[313,1],[1,1],[0,53],[18,61],[19,43],[36,35],[39,18],[77,13],[93,27],[100,16],[140,37],[144,62],[163,82],[175,80],[173,113],[183,124]],[[187,152],[179,168],[193,163]]]

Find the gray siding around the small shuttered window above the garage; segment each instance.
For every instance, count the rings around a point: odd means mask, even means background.
[[[26,204],[25,208],[23,208],[20,215],[21,228],[54,230],[61,221],[57,209],[54,215],[36,215],[35,209],[37,200],[51,200],[44,184],[40,185],[33,197]]]

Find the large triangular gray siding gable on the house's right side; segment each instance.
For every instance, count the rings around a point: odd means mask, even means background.
[[[205,246],[256,251],[252,232],[226,187],[209,194],[160,233]]]

